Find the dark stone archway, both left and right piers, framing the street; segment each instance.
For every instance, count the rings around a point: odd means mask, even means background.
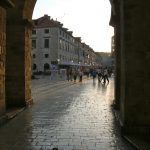
[[[114,26],[120,44],[116,73],[122,127],[125,132],[150,133],[150,70],[145,69],[150,64],[149,2],[121,0],[118,7],[117,0],[110,1],[114,19],[118,19],[116,10],[121,10],[120,24]],[[36,0],[12,2],[15,7],[7,11],[6,107],[28,106],[32,104],[31,20]]]

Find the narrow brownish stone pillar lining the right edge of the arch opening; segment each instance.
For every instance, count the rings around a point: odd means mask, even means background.
[[[114,108],[120,109],[121,97],[121,50],[120,50],[120,1],[111,2],[111,19],[110,25],[114,27],[114,44],[115,44],[115,100]]]

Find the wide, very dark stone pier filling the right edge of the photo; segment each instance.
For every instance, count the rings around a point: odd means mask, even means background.
[[[149,1],[121,0],[121,118],[125,133],[150,133]]]

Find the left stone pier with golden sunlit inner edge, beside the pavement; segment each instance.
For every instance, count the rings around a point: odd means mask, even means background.
[[[8,11],[6,55],[6,106],[24,107],[31,97],[31,24],[19,11]]]

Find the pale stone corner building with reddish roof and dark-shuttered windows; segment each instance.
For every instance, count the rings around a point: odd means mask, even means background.
[[[48,15],[33,20],[32,66],[33,72],[50,70],[54,65],[65,67],[84,64],[84,50],[80,37],[74,37],[58,21]]]

